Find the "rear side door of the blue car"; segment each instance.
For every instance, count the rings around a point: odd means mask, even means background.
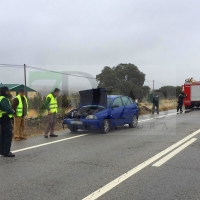
[[[122,101],[124,104],[124,112],[123,112],[123,118],[125,123],[130,123],[135,110],[135,104],[130,100],[129,97],[122,97]]]

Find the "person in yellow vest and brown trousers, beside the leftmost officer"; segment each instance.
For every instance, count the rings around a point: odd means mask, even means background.
[[[24,94],[24,89],[19,90],[19,94],[15,97],[12,104],[14,115],[14,139],[15,141],[26,140],[24,133],[25,117],[28,114],[28,100]]]

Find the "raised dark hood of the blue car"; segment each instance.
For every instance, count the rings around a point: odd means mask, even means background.
[[[107,92],[104,88],[79,91],[80,107],[99,105],[107,108]]]

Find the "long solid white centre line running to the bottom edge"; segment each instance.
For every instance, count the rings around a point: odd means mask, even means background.
[[[120,177],[116,178],[115,180],[111,181],[110,183],[103,186],[102,188],[96,190],[95,192],[88,195],[87,197],[85,197],[82,200],[98,199],[99,197],[101,197],[102,195],[107,193],[108,191],[112,190],[114,187],[118,186],[123,181],[127,180],[128,178],[130,178],[131,176],[133,176],[137,172],[141,171],[142,169],[144,169],[148,165],[152,164],[153,162],[155,162],[156,160],[158,160],[162,156],[166,155],[167,153],[169,153],[170,151],[177,148],[178,146],[185,143],[187,140],[191,139],[192,137],[194,137],[195,135],[197,135],[199,133],[200,133],[200,129],[195,131],[194,133],[188,135],[187,137],[183,138],[182,140],[178,141],[177,143],[173,144],[172,146],[168,147],[167,149],[163,150],[162,152],[156,154],[155,156],[151,157],[150,159],[146,160],[145,162],[141,163],[140,165],[136,166],[135,168],[131,169],[130,171],[126,172],[125,174],[121,175]]]

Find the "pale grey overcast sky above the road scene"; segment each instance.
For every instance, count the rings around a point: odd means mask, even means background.
[[[2,0],[0,64],[95,76],[104,66],[133,63],[146,80],[200,80],[199,10],[197,0]],[[1,68],[0,82],[22,75]]]

